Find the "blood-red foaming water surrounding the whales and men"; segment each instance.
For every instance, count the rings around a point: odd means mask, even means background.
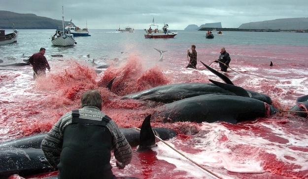
[[[198,48],[197,51],[200,52],[212,51],[200,53],[198,59],[210,64],[211,60],[204,59],[216,59],[217,49],[217,45]],[[230,45],[227,51],[232,54],[230,67],[234,71],[228,69],[224,74],[235,85],[267,94],[272,98],[276,108],[287,110],[295,105],[298,96],[306,95],[308,92],[305,87],[308,83],[305,73],[307,67],[303,66],[307,57],[305,54],[297,53],[303,50],[304,47],[292,46],[254,46],[254,49],[251,49]],[[11,84],[14,88],[12,92],[1,92],[0,141],[49,131],[63,114],[80,107],[80,96],[88,89],[100,91],[104,100],[103,112],[119,127],[139,128],[145,116],[161,104],[122,100],[121,96],[164,84],[209,82],[208,79],[221,81],[206,70],[185,69],[185,56],[178,52],[170,54],[163,62],[150,67],[147,62],[131,55],[127,61],[109,67],[103,74],[96,74],[92,67],[73,60],[52,62],[51,65],[56,70],[37,81],[32,80],[26,69],[17,73],[3,72],[0,78],[1,86]],[[277,56],[283,59],[277,59]],[[273,61],[273,67],[269,66],[270,61]],[[199,62],[197,67],[204,69]],[[219,70],[216,63],[211,67]],[[109,91],[106,85],[113,77],[116,78]],[[23,87],[20,81],[27,81],[30,85]],[[155,121],[152,123],[153,127],[164,126],[178,132],[178,136],[168,143],[221,178],[308,177],[308,168],[305,167],[308,162],[308,121],[305,118],[281,112],[268,118],[239,124]],[[115,167],[115,159],[112,159],[113,172],[116,176],[140,179],[215,178],[175,151],[167,150],[169,147],[164,143],[159,142],[158,145],[153,151],[134,152],[132,163],[124,170],[118,170]],[[170,161],[168,157],[175,162]],[[189,167],[185,168],[187,165]],[[251,169],[255,166],[261,169]],[[190,170],[195,174],[190,173]],[[27,178],[48,175],[56,173]]]

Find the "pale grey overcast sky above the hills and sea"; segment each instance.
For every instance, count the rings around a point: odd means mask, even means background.
[[[162,28],[221,22],[223,28],[266,20],[308,17],[308,0],[0,0],[0,10],[62,19],[88,29],[130,26],[148,29],[153,17]]]

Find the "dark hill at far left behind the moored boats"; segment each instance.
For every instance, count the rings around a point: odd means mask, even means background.
[[[0,29],[13,29],[13,24],[15,29],[57,29],[62,27],[62,20],[0,10]]]

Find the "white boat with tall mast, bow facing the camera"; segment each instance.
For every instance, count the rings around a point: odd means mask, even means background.
[[[77,44],[74,36],[68,30],[64,29],[64,15],[62,6],[62,25],[63,27],[56,30],[56,34],[51,37],[51,42],[55,46],[71,46]]]

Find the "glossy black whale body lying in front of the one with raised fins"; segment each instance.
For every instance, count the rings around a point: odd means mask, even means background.
[[[153,117],[163,122],[216,122],[224,121],[236,124],[240,121],[267,117],[279,112],[278,109],[253,98],[207,94],[173,103],[154,109]]]

